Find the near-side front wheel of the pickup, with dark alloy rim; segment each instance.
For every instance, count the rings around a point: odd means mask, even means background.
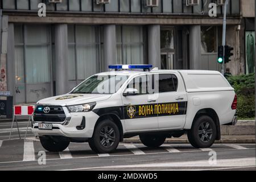
[[[117,149],[120,141],[120,132],[115,123],[109,119],[101,121],[94,129],[89,146],[98,154],[109,154]]]

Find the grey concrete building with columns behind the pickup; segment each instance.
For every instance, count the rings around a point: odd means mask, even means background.
[[[46,17],[38,16],[42,2]],[[150,7],[146,0],[105,5],[97,0],[2,0],[0,90],[10,90],[15,104],[34,103],[67,93],[109,64],[220,71],[223,6],[217,6],[217,17],[210,17],[209,3],[216,1],[192,6],[186,0],[158,2]],[[228,5],[227,44],[234,47],[234,56],[227,67],[233,75],[249,69],[243,39],[248,11],[254,12],[251,3],[230,0]]]

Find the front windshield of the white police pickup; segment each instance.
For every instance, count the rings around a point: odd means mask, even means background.
[[[73,90],[73,94],[113,94],[127,80],[125,75],[94,75]]]

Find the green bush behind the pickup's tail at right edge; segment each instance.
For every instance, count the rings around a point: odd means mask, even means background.
[[[238,118],[255,117],[255,74],[230,76],[228,81],[237,94]]]

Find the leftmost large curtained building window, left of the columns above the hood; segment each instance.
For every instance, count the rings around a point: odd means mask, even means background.
[[[24,83],[25,76],[27,84],[51,81],[49,28],[17,25],[14,30],[16,83]]]

